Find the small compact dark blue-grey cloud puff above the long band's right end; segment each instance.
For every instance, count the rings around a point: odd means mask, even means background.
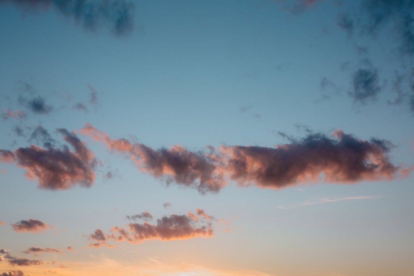
[[[378,72],[374,68],[356,70],[353,76],[353,90],[348,95],[355,103],[365,104],[368,100],[374,101],[381,91]]]

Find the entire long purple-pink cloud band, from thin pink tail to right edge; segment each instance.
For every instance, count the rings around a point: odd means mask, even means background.
[[[105,143],[112,152],[126,154],[141,171],[196,187],[202,193],[218,192],[227,180],[236,181],[239,187],[280,189],[320,181],[321,174],[325,182],[356,183],[392,180],[412,170],[391,163],[390,142],[375,138],[363,141],[342,130],[332,137],[310,133],[300,141],[291,140],[291,144],[276,148],[208,146],[209,153],[194,153],[181,146],[154,150],[127,139],[111,139],[90,124],[79,133]]]

